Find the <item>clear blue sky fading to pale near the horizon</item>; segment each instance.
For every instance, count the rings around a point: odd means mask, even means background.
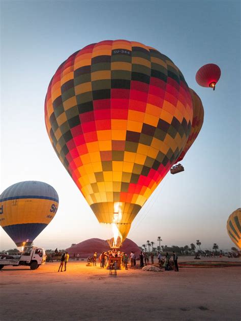
[[[240,204],[240,2],[1,1],[1,192],[27,180],[52,185],[59,208],[36,239],[69,247],[107,230],[57,158],[44,124],[44,99],[57,67],[73,52],[102,40],[139,41],[166,54],[204,106],[202,130],[182,164],[167,174],[135,218],[129,238],[203,248],[234,244],[226,221]],[[197,70],[222,70],[213,91]],[[15,246],[1,228],[1,249]]]

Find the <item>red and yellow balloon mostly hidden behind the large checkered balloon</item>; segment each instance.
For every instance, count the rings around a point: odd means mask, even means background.
[[[198,95],[189,88],[191,97],[192,97],[192,103],[193,103],[193,120],[192,120],[192,128],[191,133],[188,137],[188,141],[185,145],[184,150],[180,154],[180,156],[177,159],[177,162],[180,162],[184,156],[186,155],[187,151],[190,149],[192,144],[194,143],[195,139],[197,138],[197,135],[199,134],[202,124],[203,124],[203,117],[204,117],[204,109],[202,106],[201,99],[198,97]]]

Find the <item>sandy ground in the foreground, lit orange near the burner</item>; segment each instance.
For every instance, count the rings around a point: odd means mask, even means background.
[[[70,261],[63,273],[57,272],[58,262],[34,271],[5,267],[0,320],[241,319],[240,267],[181,268],[178,273],[129,269],[110,276],[85,264]]]

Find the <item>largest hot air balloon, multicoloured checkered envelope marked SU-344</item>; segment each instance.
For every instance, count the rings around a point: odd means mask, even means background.
[[[48,86],[52,146],[100,223],[124,239],[183,152],[193,104],[180,70],[157,49],[107,40],[73,53]]]

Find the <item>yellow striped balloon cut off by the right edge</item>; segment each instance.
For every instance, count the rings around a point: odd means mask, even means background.
[[[227,220],[227,231],[233,243],[241,249],[241,208],[229,216]]]

